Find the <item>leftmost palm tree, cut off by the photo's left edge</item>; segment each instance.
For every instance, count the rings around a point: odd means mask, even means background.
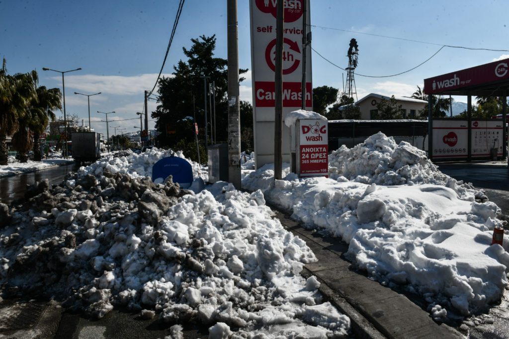
[[[19,119],[35,98],[33,74],[8,75],[4,58],[0,70],[0,165],[7,165],[7,137],[18,130]]]

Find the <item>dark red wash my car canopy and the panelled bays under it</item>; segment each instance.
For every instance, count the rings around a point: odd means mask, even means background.
[[[505,158],[504,100],[502,119],[472,119],[471,97],[507,97],[509,59],[494,61],[424,80],[427,95],[467,96],[467,119],[433,118],[429,107],[429,156],[437,160]]]

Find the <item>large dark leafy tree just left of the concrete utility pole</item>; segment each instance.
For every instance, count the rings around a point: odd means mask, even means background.
[[[157,137],[160,146],[175,148],[181,140],[186,143],[194,143],[194,119],[199,126],[199,138],[204,140],[203,76],[210,77],[207,79],[208,83],[214,81],[212,93],[216,112],[216,140],[226,142],[228,138],[228,60],[214,57],[215,35],[212,37],[201,36],[197,39],[191,39],[191,42],[190,49],[183,48],[187,60],[180,60],[174,66],[172,76],[162,77],[159,80],[158,106],[152,112],[152,117],[156,119],[156,129],[160,132]],[[245,69],[239,70],[241,74],[246,71]],[[239,80],[242,81],[243,78]],[[209,106],[208,90],[207,106]],[[210,122],[211,112],[209,107],[207,107],[207,111],[207,118]],[[192,119],[189,119],[189,117]],[[241,120],[241,128],[243,125]],[[208,131],[210,138],[211,129],[209,128]],[[197,161],[196,152],[186,154],[186,157]],[[201,161],[206,162],[207,159],[201,158]]]

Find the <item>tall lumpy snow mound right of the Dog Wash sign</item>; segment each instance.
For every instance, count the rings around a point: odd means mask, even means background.
[[[345,178],[362,183],[392,186],[432,183],[455,190],[461,197],[472,193],[487,199],[483,191],[474,189],[438,170],[420,150],[408,142],[395,143],[392,137],[378,132],[352,148],[342,145],[329,156],[332,179]]]

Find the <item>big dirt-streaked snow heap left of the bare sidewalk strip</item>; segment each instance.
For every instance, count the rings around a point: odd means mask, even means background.
[[[66,299],[99,318],[122,304],[210,324],[211,337],[348,334],[350,320],[299,274],[315,255],[271,218],[261,191],[154,184],[139,173],[156,152],[108,158],[54,188],[32,186],[23,206],[0,204],[4,296]]]

